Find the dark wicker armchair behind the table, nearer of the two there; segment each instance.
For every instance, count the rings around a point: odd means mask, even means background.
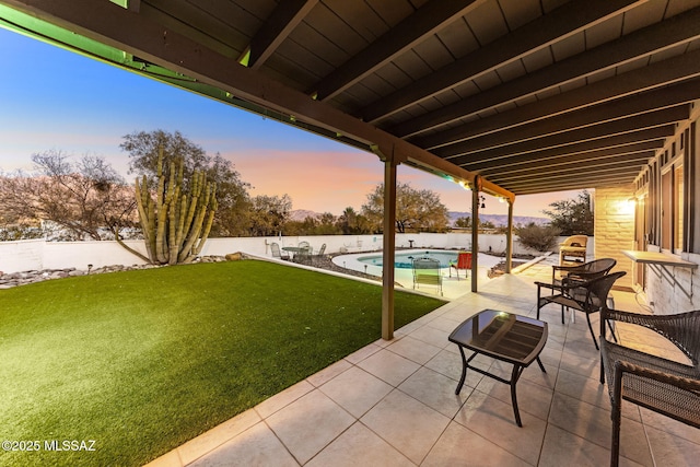
[[[564,323],[564,310],[583,312],[586,315],[593,343],[596,350],[599,349],[591,324],[591,315],[607,307],[608,293],[612,289],[612,284],[626,273],[625,271],[612,272],[587,281],[563,281],[561,284],[535,282],[537,284],[537,319],[539,319],[539,310],[550,303],[561,305],[562,324]],[[542,295],[542,289],[550,290],[551,295]]]

